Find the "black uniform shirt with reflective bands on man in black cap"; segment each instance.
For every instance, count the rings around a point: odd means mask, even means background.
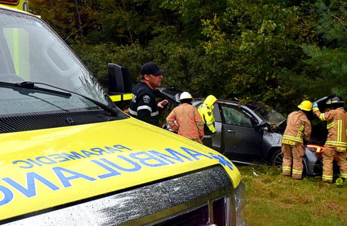
[[[154,92],[144,82],[133,87],[133,99],[129,106],[129,115],[143,122],[158,126],[159,111]]]

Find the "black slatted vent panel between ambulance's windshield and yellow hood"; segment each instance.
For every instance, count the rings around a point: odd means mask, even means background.
[[[6,116],[0,117],[0,134],[102,123],[126,118],[128,117],[121,112],[119,116],[111,116],[101,109]]]

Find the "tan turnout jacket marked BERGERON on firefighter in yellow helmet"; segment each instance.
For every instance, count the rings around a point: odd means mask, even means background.
[[[288,116],[287,127],[284,131],[282,144],[296,145],[296,142],[308,141],[311,135],[311,122],[301,110],[294,111]]]

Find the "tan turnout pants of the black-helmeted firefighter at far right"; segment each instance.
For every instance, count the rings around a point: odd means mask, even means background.
[[[340,168],[340,177],[347,178],[347,161],[346,152],[336,151],[338,146],[324,145],[322,150],[323,156],[323,175],[322,180],[324,182],[332,183],[332,161],[337,156],[337,165]]]

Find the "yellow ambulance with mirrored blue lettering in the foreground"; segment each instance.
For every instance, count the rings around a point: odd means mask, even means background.
[[[0,224],[245,224],[230,160],[124,114],[25,11],[0,0]]]

